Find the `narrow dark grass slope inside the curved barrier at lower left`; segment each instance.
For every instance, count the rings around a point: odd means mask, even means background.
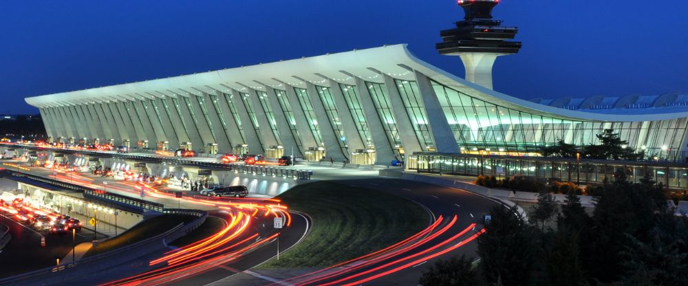
[[[122,234],[118,236],[98,243],[98,246],[91,248],[88,252],[86,252],[84,257],[101,254],[110,250],[116,250],[117,248],[121,248],[132,243],[137,243],[138,241],[142,241],[171,230],[180,223],[188,223],[196,218],[197,217],[187,214],[162,214],[158,217],[147,219],[138,225],[134,225],[133,228],[129,228],[129,230],[122,232]]]

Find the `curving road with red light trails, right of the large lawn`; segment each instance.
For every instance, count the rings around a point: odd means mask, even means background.
[[[400,179],[339,181],[390,192],[426,207],[434,223],[418,236],[391,248],[325,270],[287,279],[288,285],[418,285],[420,274],[438,259],[475,257],[475,237],[484,215],[499,203],[471,192]],[[272,285],[278,285],[274,283]]]

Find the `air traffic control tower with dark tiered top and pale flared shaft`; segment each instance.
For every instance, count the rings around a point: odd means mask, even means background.
[[[502,27],[501,20],[492,19],[492,10],[499,0],[458,0],[466,17],[456,28],[443,30],[444,40],[436,48],[440,54],[460,56],[466,67],[466,80],[492,89],[492,67],[497,56],[516,54],[521,42],[514,39],[518,28]]]

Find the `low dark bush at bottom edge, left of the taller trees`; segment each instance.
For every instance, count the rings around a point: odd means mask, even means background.
[[[456,256],[451,259],[434,263],[427,272],[423,272],[418,280],[420,285],[428,286],[460,286],[476,285],[477,273],[473,269],[473,259]]]

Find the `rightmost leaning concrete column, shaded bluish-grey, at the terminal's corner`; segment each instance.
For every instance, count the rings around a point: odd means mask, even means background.
[[[440,106],[440,100],[438,100],[435,89],[433,89],[432,83],[430,83],[430,78],[418,71],[414,71],[414,74],[416,75],[420,97],[423,99],[423,105],[425,106],[428,124],[430,124],[430,134],[435,141],[435,149],[439,153],[460,153],[454,133],[451,131],[447,117],[444,116],[444,111]]]

